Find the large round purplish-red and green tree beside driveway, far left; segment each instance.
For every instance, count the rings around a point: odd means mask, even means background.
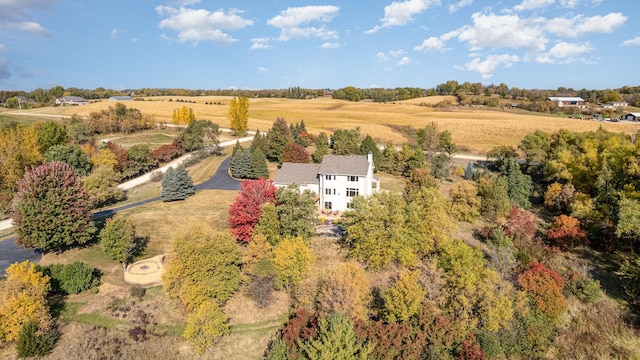
[[[89,196],[71,166],[44,163],[29,170],[18,186],[12,217],[20,245],[49,252],[91,239]]]

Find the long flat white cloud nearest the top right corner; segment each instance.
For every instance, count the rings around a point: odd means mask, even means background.
[[[559,35],[576,38],[587,33],[610,33],[627,21],[622,13],[609,13],[585,17],[576,15],[572,18],[557,17],[546,22],[546,30]]]

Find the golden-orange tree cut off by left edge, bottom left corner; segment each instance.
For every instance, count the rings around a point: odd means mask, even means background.
[[[0,345],[14,341],[27,322],[35,322],[42,331],[51,328],[50,289],[49,277],[37,271],[32,262],[7,268],[5,280],[0,281]]]

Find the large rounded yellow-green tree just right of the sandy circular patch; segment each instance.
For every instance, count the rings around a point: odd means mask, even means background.
[[[210,227],[193,225],[173,239],[162,274],[169,298],[195,311],[207,301],[224,304],[241,282],[242,253],[234,238]]]

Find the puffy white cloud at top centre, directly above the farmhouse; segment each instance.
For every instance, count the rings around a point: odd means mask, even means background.
[[[339,11],[339,7],[332,5],[292,7],[267,20],[267,24],[280,29],[278,40],[281,41],[314,37],[335,39],[337,33],[326,29],[324,24],[331,22]],[[321,26],[302,26],[309,23],[320,23]]]

